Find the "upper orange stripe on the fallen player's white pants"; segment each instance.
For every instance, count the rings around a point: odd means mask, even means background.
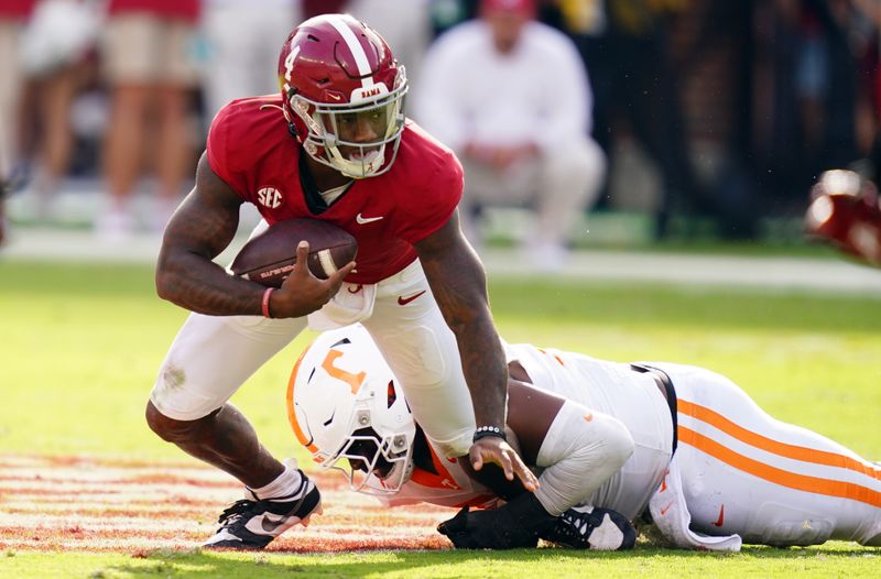
[[[732,438],[737,438],[742,443],[747,443],[750,446],[761,448],[774,455],[802,460],[804,462],[813,462],[815,465],[848,469],[875,480],[881,480],[881,468],[874,468],[850,457],[829,452],[827,450],[817,450],[815,448],[780,443],[766,436],[753,433],[752,430],[748,430],[742,426],[738,426],[721,414],[705,406],[700,406],[699,404],[679,398],[677,401],[677,411],[707,423]]]

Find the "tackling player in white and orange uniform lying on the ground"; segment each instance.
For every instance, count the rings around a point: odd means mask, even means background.
[[[664,542],[681,548],[829,539],[881,546],[881,467],[772,418],[725,376],[525,343],[505,345],[505,352],[509,439],[541,472],[541,485],[502,506],[437,458],[359,326],[325,332],[301,354],[289,418],[319,468],[341,470],[354,490],[385,505],[491,509],[464,509],[442,523],[438,531],[457,547],[526,547],[544,538],[621,548],[632,545],[627,520],[648,518],[646,510]],[[539,503],[530,516],[521,516],[524,496]]]

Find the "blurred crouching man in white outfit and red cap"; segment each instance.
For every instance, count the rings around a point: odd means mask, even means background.
[[[535,209],[526,255],[562,266],[567,236],[595,201],[606,159],[589,136],[591,92],[565,34],[534,20],[534,0],[483,0],[479,19],[445,32],[423,62],[414,116],[465,166],[466,234],[488,205]]]

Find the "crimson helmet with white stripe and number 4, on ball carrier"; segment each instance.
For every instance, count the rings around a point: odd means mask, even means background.
[[[344,175],[387,172],[404,130],[404,67],[373,29],[348,14],[296,26],[279,57],[284,116],[312,159]]]

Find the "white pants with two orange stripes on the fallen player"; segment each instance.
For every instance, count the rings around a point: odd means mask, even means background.
[[[881,545],[881,467],[772,418],[722,375],[652,365],[676,389],[676,460],[692,529],[752,544]]]

